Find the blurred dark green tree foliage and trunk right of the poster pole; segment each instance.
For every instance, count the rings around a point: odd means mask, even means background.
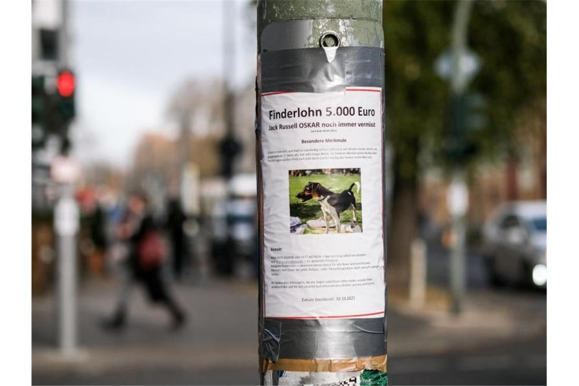
[[[440,151],[449,142],[449,85],[436,75],[434,62],[449,49],[455,5],[384,2],[386,130],[394,174],[388,264],[394,285],[408,282],[420,172],[425,164],[444,167],[452,161]],[[483,119],[464,135],[472,150],[464,163],[516,159],[519,119],[546,95],[546,15],[547,7],[539,1],[475,3],[468,45],[480,58],[481,71],[470,90]]]

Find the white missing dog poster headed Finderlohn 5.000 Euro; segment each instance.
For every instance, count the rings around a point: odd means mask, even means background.
[[[264,318],[383,317],[381,93],[261,94]]]

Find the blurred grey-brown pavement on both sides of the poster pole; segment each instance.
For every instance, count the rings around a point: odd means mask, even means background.
[[[54,348],[53,297],[32,299],[33,384],[177,384],[179,376],[188,384],[256,384],[257,284],[212,280],[174,289],[188,312],[188,323],[181,330],[171,331],[167,313],[151,307],[135,286],[126,329],[107,332],[100,322],[112,311],[116,282],[83,284],[80,349],[71,358],[63,358]],[[420,309],[391,293],[387,310],[391,358],[525,340],[544,333],[546,327],[544,296],[479,291],[470,294],[463,315],[450,317],[444,293],[435,289],[430,293],[434,296]]]

